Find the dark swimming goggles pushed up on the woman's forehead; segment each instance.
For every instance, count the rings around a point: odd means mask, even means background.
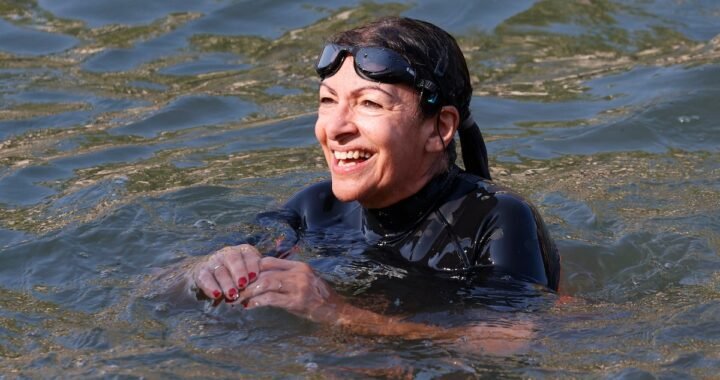
[[[315,71],[321,79],[333,76],[347,55],[355,59],[355,72],[368,80],[382,83],[405,83],[430,92],[437,91],[437,85],[427,79],[417,79],[415,69],[402,55],[377,46],[347,46],[327,44],[320,54]]]

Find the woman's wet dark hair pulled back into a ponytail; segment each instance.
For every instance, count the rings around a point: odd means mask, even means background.
[[[490,179],[487,150],[477,124],[470,115],[472,84],[465,56],[455,38],[426,21],[407,17],[386,17],[355,29],[340,32],[329,43],[358,47],[384,47],[399,53],[412,65],[417,80],[430,80],[438,86],[435,94],[420,92],[420,110],[426,118],[438,114],[443,106],[454,106],[460,114],[460,142],[467,171]],[[448,162],[455,162],[455,141],[447,149]]]

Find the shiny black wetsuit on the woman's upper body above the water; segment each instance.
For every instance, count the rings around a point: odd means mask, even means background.
[[[303,189],[286,207],[300,235],[356,232],[374,252],[411,265],[449,273],[502,273],[558,287],[560,257],[535,208],[454,165],[387,208],[341,202],[330,181]]]

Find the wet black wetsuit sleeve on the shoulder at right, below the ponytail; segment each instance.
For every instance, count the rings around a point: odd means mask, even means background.
[[[557,249],[540,215],[513,194],[496,194],[496,199],[480,231],[479,257],[489,257],[498,271],[557,289]]]

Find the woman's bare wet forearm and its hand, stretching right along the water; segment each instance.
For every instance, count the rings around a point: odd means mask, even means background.
[[[527,346],[533,335],[533,325],[529,322],[510,326],[475,324],[443,328],[384,316],[347,303],[306,263],[274,257],[260,260],[258,279],[240,292],[238,302],[248,309],[282,308],[355,334],[447,340],[484,353],[517,352]]]

